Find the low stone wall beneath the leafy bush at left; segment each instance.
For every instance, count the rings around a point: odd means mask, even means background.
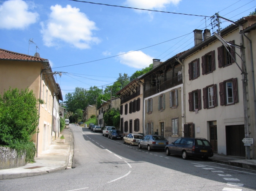
[[[22,167],[26,164],[26,153],[20,156],[14,149],[0,147],[0,170]]]

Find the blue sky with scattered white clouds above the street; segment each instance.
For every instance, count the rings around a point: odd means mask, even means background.
[[[211,19],[204,16],[219,12],[236,21],[256,8],[255,0],[88,2],[182,14],[72,0],[0,0],[0,48],[31,56],[38,52],[48,59],[53,71],[63,72],[55,79],[65,98],[75,87],[104,89],[119,73],[130,76],[153,58],[165,61],[193,47],[193,30],[207,28],[213,33]],[[221,27],[229,24],[222,20]]]

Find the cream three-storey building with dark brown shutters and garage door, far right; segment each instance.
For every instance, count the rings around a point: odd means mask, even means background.
[[[256,26],[245,19],[237,23],[241,26],[231,24],[221,31],[224,41],[233,43],[230,44],[231,48],[228,47],[230,54],[215,36],[211,36],[208,29],[204,32],[194,30],[195,46],[178,57],[178,60],[184,69],[184,136],[208,139],[218,154],[245,156],[242,142],[245,137],[245,119],[248,119],[249,137],[256,138],[255,83],[252,79],[255,76],[252,73],[255,58],[252,59],[250,53],[250,50],[256,50],[256,35],[255,30],[252,30]],[[248,32],[252,49],[243,31]],[[241,52],[236,45],[245,47],[248,73],[245,102],[248,115],[245,116],[240,69],[243,66],[239,57]],[[255,144],[250,146],[250,158],[256,159],[255,150]]]

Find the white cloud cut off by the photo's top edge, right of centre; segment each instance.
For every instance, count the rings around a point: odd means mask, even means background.
[[[181,0],[126,0],[126,4],[134,8],[162,9],[168,4],[177,5]]]

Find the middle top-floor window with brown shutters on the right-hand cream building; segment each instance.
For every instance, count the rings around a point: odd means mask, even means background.
[[[209,74],[215,70],[215,51],[202,56],[202,74]]]

